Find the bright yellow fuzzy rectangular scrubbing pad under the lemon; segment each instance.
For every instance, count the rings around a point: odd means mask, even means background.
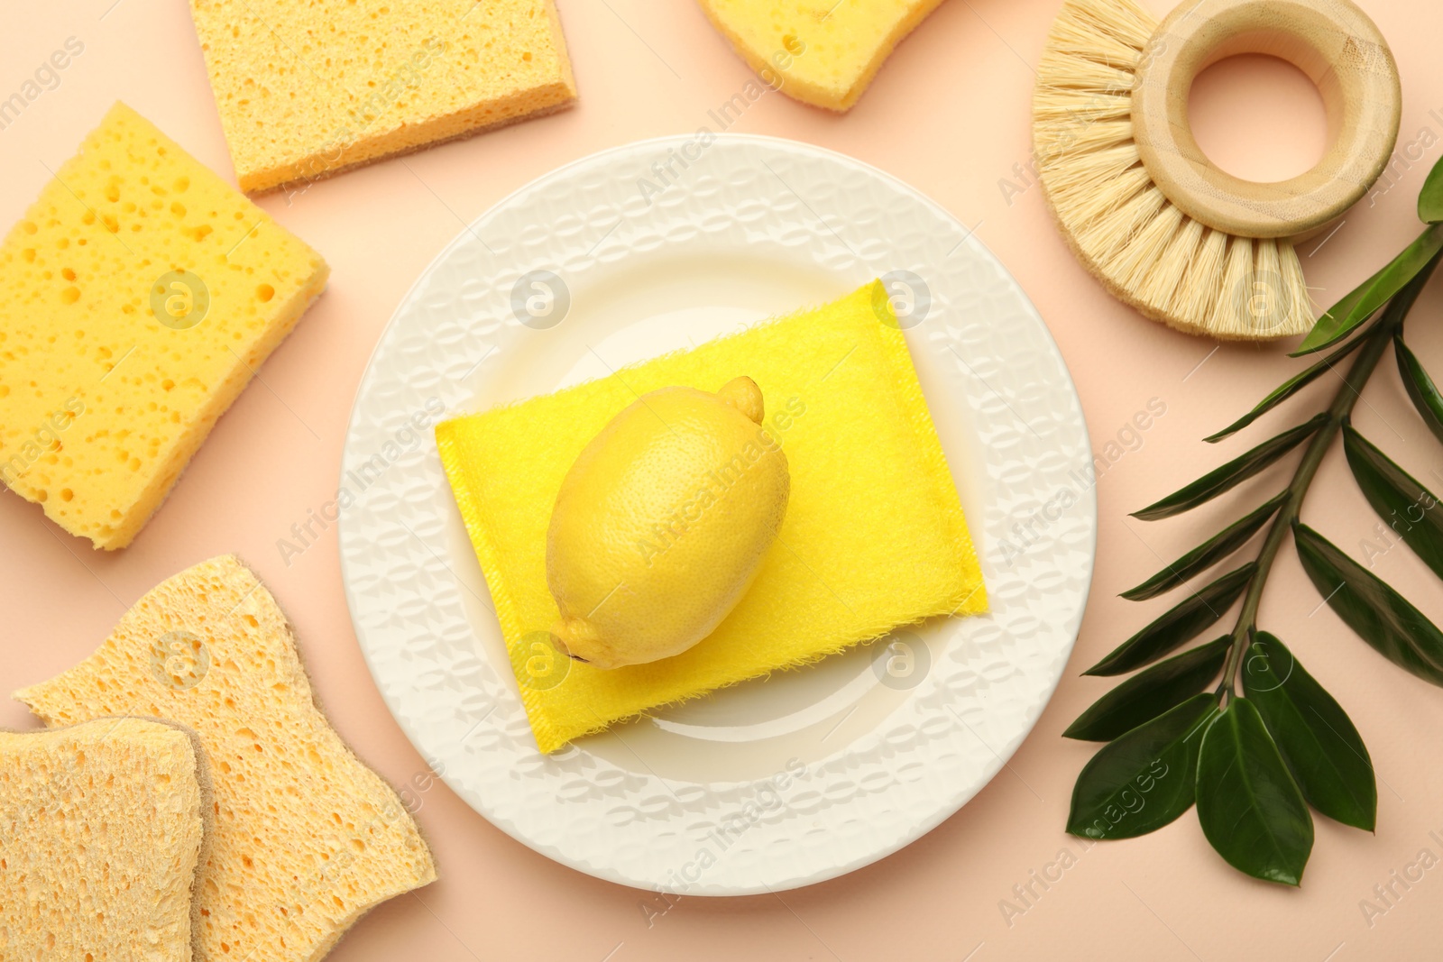
[[[557,655],[545,537],[576,456],[638,395],[716,391],[737,375],[760,385],[765,427],[792,475],[786,519],[750,591],[675,658],[602,671]],[[543,751],[899,625],[987,609],[937,430],[876,281],[694,350],[446,421],[436,440]]]

